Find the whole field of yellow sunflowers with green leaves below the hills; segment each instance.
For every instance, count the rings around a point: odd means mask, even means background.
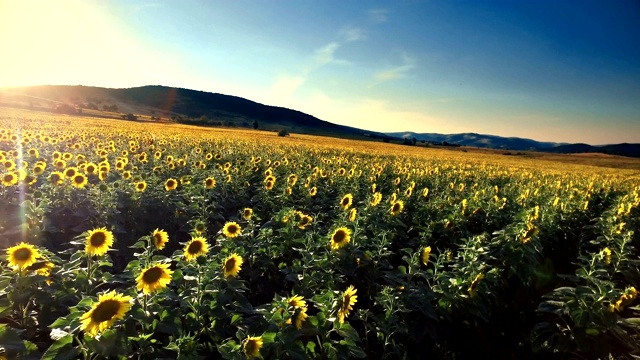
[[[0,124],[0,359],[640,355],[637,171]]]

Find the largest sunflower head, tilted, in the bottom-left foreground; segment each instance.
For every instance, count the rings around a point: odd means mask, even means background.
[[[117,294],[115,291],[99,295],[98,302],[80,318],[82,330],[95,337],[110,328],[116,320],[124,319],[131,308],[131,300],[131,296]]]

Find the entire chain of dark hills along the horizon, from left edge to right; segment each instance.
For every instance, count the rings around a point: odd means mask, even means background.
[[[429,143],[515,151],[555,153],[605,153],[640,157],[640,144],[592,146],[539,142],[517,137],[475,133],[435,134],[414,132],[380,133],[334,124],[303,112],[260,104],[237,96],[167,86],[110,89],[92,86],[46,85],[0,89],[0,106],[34,110],[82,112],[91,116],[145,116],[156,121],[176,121],[202,126],[254,127],[264,130],[378,139],[404,144]],[[135,117],[133,116],[133,117]]]

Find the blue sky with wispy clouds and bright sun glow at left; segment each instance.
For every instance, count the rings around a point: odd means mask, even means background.
[[[640,143],[638,44],[633,0],[0,0],[0,86],[178,86],[377,131]]]

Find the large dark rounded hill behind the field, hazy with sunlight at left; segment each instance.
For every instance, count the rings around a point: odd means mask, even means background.
[[[167,86],[111,89],[91,86],[46,85],[5,89],[0,105],[22,103],[31,108],[104,110],[165,118],[195,125],[224,125],[341,137],[386,137],[383,134],[334,124],[283,107],[237,96]]]

